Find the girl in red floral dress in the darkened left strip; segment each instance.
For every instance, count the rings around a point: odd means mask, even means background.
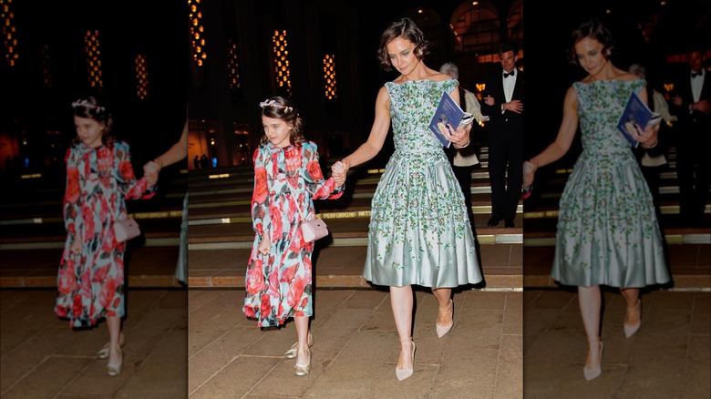
[[[129,145],[111,136],[112,118],[95,97],[72,103],[77,138],[67,150],[67,229],[57,278],[55,312],[72,327],[92,327],[107,319],[109,342],[98,352],[108,357],[108,375],[123,364],[124,266],[126,243],[114,237],[112,225],[126,216],[126,199],[153,196],[157,173],[144,169],[136,179]],[[150,176],[149,176],[150,175]]]

